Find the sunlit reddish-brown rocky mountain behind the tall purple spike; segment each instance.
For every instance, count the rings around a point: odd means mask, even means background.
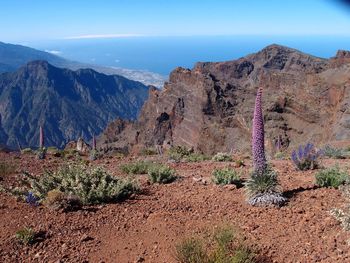
[[[264,89],[267,149],[350,141],[350,52],[322,59],[270,45],[233,61],[176,68],[163,90],[150,90],[138,120],[111,123],[99,145],[250,153],[257,87]]]

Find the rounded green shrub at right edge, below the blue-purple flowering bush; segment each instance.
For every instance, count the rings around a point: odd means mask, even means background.
[[[319,171],[315,178],[316,184],[320,187],[338,188],[349,181],[347,172],[340,170],[338,165]]]

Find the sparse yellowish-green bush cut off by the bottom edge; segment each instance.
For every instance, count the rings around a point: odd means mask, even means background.
[[[175,246],[181,263],[254,263],[257,256],[232,227],[220,227],[204,236],[190,237]]]

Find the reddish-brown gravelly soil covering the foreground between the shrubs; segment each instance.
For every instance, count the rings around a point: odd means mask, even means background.
[[[63,162],[13,153],[0,153],[0,160],[18,165],[3,184],[15,183],[21,170],[40,175],[44,168]],[[130,160],[105,158],[94,164],[124,176],[119,166]],[[324,165],[334,162],[326,160]],[[347,162],[340,161],[341,166]],[[350,234],[329,213],[344,204],[340,191],[315,188],[315,171],[295,171],[290,161],[272,164],[290,197],[282,208],[251,207],[243,188],[214,185],[212,170],[233,163],[211,161],[170,164],[180,176],[171,184],[150,185],[145,175],[138,176],[143,191],[132,199],[70,213],[31,207],[0,193],[0,261],[171,263],[176,262],[174,246],[184,237],[230,223],[241,229],[265,262],[350,262]],[[247,174],[249,169],[243,171]],[[42,240],[32,246],[18,244],[14,234],[25,226],[41,231]]]

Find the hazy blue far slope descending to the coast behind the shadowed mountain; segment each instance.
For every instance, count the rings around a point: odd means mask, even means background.
[[[158,88],[161,88],[166,80],[165,76],[154,72],[80,63],[30,47],[0,42],[0,73],[16,71],[19,67],[33,60],[45,60],[56,67],[71,70],[91,68],[100,73],[121,75],[131,80],[140,81],[145,85],[153,85]]]

